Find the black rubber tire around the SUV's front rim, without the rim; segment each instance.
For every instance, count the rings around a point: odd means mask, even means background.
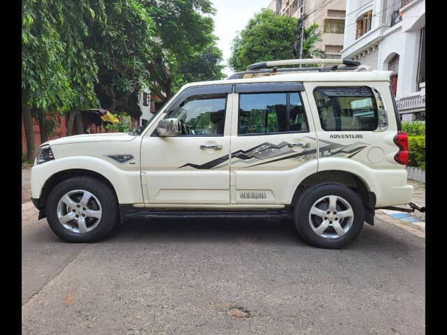
[[[65,228],[57,215],[57,204],[68,192],[73,190],[85,190],[92,193],[101,203],[101,219],[96,228],[89,232],[73,232]],[[94,242],[106,237],[115,224],[119,221],[119,207],[115,192],[103,181],[94,177],[73,177],[62,181],[55,186],[47,198],[45,213],[50,228],[61,239],[67,242]]]

